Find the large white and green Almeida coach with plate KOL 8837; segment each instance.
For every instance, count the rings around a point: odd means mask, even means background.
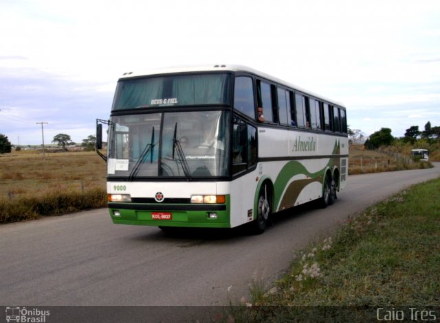
[[[124,73],[96,125],[114,224],[259,234],[272,213],[333,204],[347,182],[346,108],[250,67]]]

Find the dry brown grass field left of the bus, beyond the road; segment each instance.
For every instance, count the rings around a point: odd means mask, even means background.
[[[107,205],[106,165],[95,152],[0,155],[0,223]]]

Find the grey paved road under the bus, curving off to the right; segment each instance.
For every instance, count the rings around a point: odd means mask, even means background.
[[[221,305],[267,286],[295,252],[433,169],[350,176],[326,209],[281,213],[263,235],[111,223],[107,209],[0,226],[0,305]]]

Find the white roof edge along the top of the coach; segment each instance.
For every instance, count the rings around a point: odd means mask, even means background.
[[[166,67],[162,69],[152,69],[149,71],[143,72],[127,72],[120,77],[120,80],[129,77],[142,77],[148,75],[162,75],[162,74],[173,74],[173,73],[193,73],[193,72],[210,72],[210,71],[232,71],[232,72],[246,72],[254,75],[258,75],[260,77],[265,78],[266,80],[270,80],[272,82],[276,82],[278,84],[282,84],[289,88],[294,88],[300,92],[311,95],[316,99],[322,99],[323,101],[327,101],[331,104],[335,104],[337,106],[344,107],[344,104],[334,101],[332,99],[328,99],[327,97],[323,97],[322,95],[318,95],[314,92],[308,91],[305,88],[297,86],[295,84],[283,81],[278,79],[278,77],[274,77],[272,75],[266,74],[261,71],[257,71],[256,69],[252,69],[252,67],[247,67],[245,65],[239,64],[216,64],[216,65],[193,65],[193,66],[180,66],[180,67]]]

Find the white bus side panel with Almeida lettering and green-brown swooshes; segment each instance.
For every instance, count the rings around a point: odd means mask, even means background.
[[[263,176],[274,178],[274,211],[321,198],[327,171],[339,174],[342,189],[348,174],[344,155],[348,155],[348,141],[343,136],[259,128],[259,157],[285,158],[259,165]]]

